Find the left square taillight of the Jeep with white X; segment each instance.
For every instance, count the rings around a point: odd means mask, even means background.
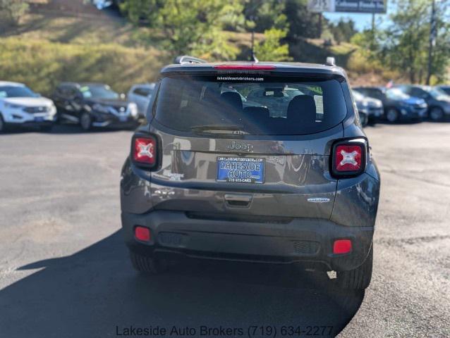
[[[158,163],[158,142],[150,135],[134,135],[131,140],[131,158],[136,165],[154,168]]]

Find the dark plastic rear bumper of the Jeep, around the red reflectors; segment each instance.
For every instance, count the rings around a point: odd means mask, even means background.
[[[260,263],[305,263],[323,270],[352,270],[367,257],[374,227],[347,227],[330,220],[293,218],[286,222],[193,218],[182,211],[122,213],[128,247],[141,254],[178,254],[192,258]],[[150,228],[149,243],[134,237],[135,226]],[[350,253],[333,254],[336,239],[351,239]]]

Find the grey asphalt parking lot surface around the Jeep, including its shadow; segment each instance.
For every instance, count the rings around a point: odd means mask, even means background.
[[[450,337],[450,123],[366,132],[382,197],[365,293],[295,267],[187,262],[142,277],[119,231],[131,132],[0,135],[0,336],[299,325],[343,329],[339,337]]]

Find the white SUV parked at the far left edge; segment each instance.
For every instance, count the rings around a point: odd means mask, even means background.
[[[0,81],[0,132],[7,127],[39,127],[49,131],[56,120],[53,101],[25,84]]]

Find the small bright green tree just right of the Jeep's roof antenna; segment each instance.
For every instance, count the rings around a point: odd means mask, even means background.
[[[271,28],[264,31],[264,41],[255,44],[255,55],[260,61],[290,61],[289,47],[280,40],[287,35],[285,30]]]

